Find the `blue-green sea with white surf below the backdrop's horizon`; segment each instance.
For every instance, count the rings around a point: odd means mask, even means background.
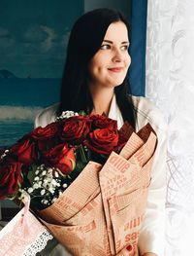
[[[34,128],[36,115],[58,101],[60,82],[56,78],[0,78],[0,147],[12,145]]]

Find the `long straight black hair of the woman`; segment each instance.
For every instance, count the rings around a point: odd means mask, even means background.
[[[122,21],[127,26],[127,20],[121,13],[111,9],[96,9],[79,18],[71,31],[66,63],[64,67],[60,92],[60,104],[57,114],[65,110],[90,113],[93,101],[87,87],[88,62],[100,49],[109,25]],[[128,121],[135,128],[135,114],[128,77],[123,83],[114,88],[116,103],[124,121]]]

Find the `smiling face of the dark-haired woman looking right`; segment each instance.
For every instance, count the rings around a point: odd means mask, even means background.
[[[128,47],[126,25],[111,23],[101,48],[89,62],[89,86],[113,88],[122,84],[131,63]]]

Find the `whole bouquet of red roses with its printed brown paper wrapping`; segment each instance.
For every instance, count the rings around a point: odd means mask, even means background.
[[[0,161],[0,198],[30,196],[36,216],[74,255],[137,246],[156,135],[102,115],[64,112],[35,128]]]

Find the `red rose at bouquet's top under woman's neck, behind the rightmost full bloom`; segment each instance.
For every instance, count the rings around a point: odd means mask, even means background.
[[[117,130],[117,121],[106,116],[92,115],[90,119],[93,121],[94,128],[113,128]]]

